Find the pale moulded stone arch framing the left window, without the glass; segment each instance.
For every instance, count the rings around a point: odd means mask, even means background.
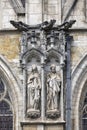
[[[14,120],[16,124],[15,128],[18,130],[20,129],[19,119],[22,114],[20,109],[23,106],[23,100],[22,100],[22,95],[21,95],[21,90],[20,90],[22,84],[20,80],[18,80],[18,78],[15,76],[7,60],[2,55],[0,55],[0,78],[3,79],[6,87],[8,88],[8,92],[10,91],[11,103],[7,101],[6,99],[4,100],[5,102],[7,102],[8,104],[12,106],[12,110],[14,114],[13,116],[16,117],[14,118],[16,119]]]

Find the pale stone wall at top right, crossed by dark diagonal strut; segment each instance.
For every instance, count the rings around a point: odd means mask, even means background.
[[[87,25],[87,1],[66,0],[62,9],[62,20],[75,19],[77,22],[73,28],[86,28]],[[67,16],[67,17],[66,17]],[[66,19],[65,19],[66,18]]]

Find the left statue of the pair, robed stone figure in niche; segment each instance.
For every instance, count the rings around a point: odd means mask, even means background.
[[[29,113],[30,111],[40,110],[41,82],[40,82],[40,74],[38,72],[36,65],[32,65],[32,70],[27,80],[27,90],[28,90],[27,113]]]

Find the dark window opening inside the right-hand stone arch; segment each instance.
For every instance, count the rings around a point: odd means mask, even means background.
[[[79,100],[79,130],[87,130],[87,80],[83,85]]]

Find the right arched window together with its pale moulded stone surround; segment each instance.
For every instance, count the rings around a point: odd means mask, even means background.
[[[87,130],[87,55],[72,73],[72,130]]]

